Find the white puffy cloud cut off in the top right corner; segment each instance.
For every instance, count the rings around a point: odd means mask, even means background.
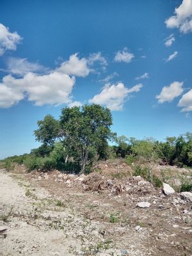
[[[182,33],[192,32],[192,0],[183,0],[175,15],[165,20],[167,28],[179,28]]]

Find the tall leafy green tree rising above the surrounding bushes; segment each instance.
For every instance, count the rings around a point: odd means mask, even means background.
[[[63,108],[59,120],[47,115],[44,120],[38,121],[35,136],[36,140],[47,145],[60,140],[65,151],[65,162],[74,161],[84,172],[94,157],[104,155],[108,140],[113,137],[111,125],[111,111],[100,105]]]

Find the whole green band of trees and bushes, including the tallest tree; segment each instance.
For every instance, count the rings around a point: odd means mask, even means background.
[[[111,112],[97,104],[63,108],[56,120],[47,115],[37,122],[35,138],[42,145],[30,154],[7,157],[1,163],[11,168],[24,164],[28,170],[57,169],[90,172],[98,160],[122,157],[125,163],[164,163],[192,166],[192,133],[168,137],[164,142],[146,138],[126,138],[111,132]],[[111,141],[112,145],[109,145]]]

